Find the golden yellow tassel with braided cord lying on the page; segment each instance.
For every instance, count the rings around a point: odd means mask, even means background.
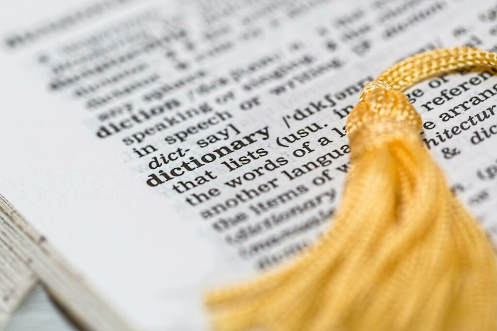
[[[217,331],[496,331],[497,268],[484,231],[419,140],[400,91],[462,67],[470,48],[408,58],[368,83],[347,119],[352,168],[324,238],[295,263],[213,292]]]

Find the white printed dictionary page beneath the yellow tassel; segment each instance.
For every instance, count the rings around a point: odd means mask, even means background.
[[[46,270],[70,265],[131,330],[203,331],[206,291],[287,263],[331,226],[362,86],[424,50],[496,50],[497,3],[1,1],[0,41],[0,194],[33,227],[35,271],[57,293],[67,277]],[[406,92],[490,233],[494,73]],[[64,304],[99,314],[83,301]]]

